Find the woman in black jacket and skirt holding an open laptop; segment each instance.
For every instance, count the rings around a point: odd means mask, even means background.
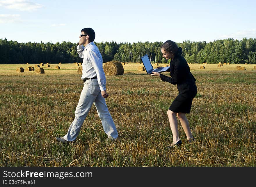
[[[191,130],[189,128],[189,121],[186,118],[186,114],[189,114],[192,100],[197,93],[197,87],[195,85],[195,78],[191,74],[189,66],[182,56],[182,48],[171,40],[167,40],[161,46],[161,52],[166,60],[171,59],[170,62],[170,75],[168,77],[158,72],[152,72],[155,76],[160,76],[162,81],[170,82],[171,84],[177,84],[179,91],[178,96],[175,98],[171,106],[167,111],[167,115],[170,121],[170,127],[173,133],[173,143],[169,148],[181,145],[182,141],[179,138],[178,121],[176,115],[182,125],[184,132],[186,133],[188,142],[194,140]]]

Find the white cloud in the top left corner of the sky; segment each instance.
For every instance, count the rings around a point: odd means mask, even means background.
[[[30,0],[1,0],[0,6],[3,6],[8,9],[21,10],[21,11],[37,10],[43,7],[43,5],[38,3],[33,3]]]

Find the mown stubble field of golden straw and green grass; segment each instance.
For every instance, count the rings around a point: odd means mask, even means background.
[[[177,87],[137,71],[142,64],[128,62],[124,75],[106,76],[106,103],[119,139],[106,141],[93,106],[69,144],[55,136],[65,135],[74,119],[83,87],[78,67],[50,64],[44,74],[16,73],[29,65],[0,64],[1,167],[256,166],[255,64],[189,65],[198,87],[187,114],[195,142],[186,143],[179,124],[183,144],[173,150],[166,149],[172,143],[166,112]]]

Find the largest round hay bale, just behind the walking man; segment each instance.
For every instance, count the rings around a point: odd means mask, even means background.
[[[124,67],[119,61],[106,62],[103,70],[106,75],[123,75]]]

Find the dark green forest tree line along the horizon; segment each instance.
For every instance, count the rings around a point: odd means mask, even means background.
[[[168,63],[162,57],[163,42],[94,42],[102,54],[103,62],[118,60],[120,62],[140,62],[140,57],[148,54],[154,63]],[[206,43],[189,40],[177,43],[182,47],[182,55],[189,63],[229,62],[234,64],[256,63],[256,39],[244,37],[238,39],[220,39]],[[39,63],[74,63],[82,62],[77,54],[77,43],[52,42],[18,43],[0,39],[0,64],[39,64]]]

